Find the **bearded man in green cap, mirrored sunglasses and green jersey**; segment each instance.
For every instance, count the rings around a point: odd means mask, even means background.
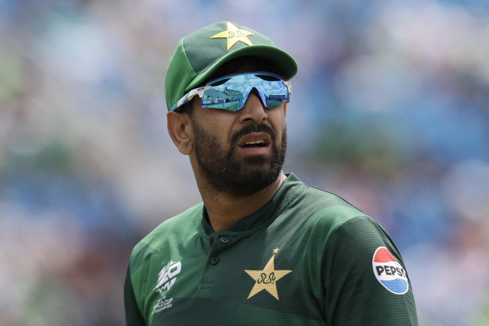
[[[135,246],[128,325],[417,324],[406,269],[382,227],[282,172],[296,71],[288,53],[232,22],[178,44],[166,76],[168,131],[203,203]]]

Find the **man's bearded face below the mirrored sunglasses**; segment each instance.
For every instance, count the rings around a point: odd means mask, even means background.
[[[192,102],[195,154],[216,191],[250,195],[277,180],[287,147],[284,105],[271,110],[253,92],[241,110],[203,108]]]

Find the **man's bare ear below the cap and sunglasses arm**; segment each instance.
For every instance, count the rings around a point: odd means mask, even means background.
[[[168,133],[180,153],[188,155],[194,150],[192,121],[188,114],[170,111],[167,113]]]

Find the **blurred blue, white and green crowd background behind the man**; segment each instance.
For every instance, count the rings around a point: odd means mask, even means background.
[[[0,0],[0,323],[124,323],[132,247],[201,201],[169,59],[229,20],[297,60],[284,171],[384,226],[421,325],[489,325],[489,3],[182,4]]]

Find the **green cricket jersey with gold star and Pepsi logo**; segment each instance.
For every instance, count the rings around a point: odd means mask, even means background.
[[[257,212],[214,232],[201,203],[132,252],[128,325],[417,325],[399,251],[336,195],[288,175]]]

